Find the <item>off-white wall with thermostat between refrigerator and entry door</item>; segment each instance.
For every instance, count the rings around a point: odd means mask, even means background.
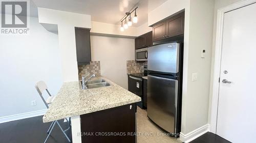
[[[213,22],[214,0],[190,1],[187,95],[183,102],[186,113],[183,119],[184,133],[208,124]],[[202,49],[206,50],[205,58],[201,58]],[[197,81],[191,80],[193,73],[198,73]]]

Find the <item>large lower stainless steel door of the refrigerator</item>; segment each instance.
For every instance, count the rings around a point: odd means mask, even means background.
[[[147,76],[147,116],[169,133],[176,133],[178,80]]]

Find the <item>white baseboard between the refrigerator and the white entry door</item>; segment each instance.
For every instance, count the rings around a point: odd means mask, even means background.
[[[190,142],[196,138],[198,138],[199,136],[203,135],[204,133],[210,131],[210,125],[206,124],[200,128],[197,128],[196,130],[193,130],[187,134],[184,133],[180,133],[180,140],[187,143]]]

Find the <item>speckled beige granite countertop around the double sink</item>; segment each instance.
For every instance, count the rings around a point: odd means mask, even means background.
[[[82,90],[80,81],[64,82],[42,117],[44,123],[141,101],[141,98],[104,78],[109,87]],[[97,79],[97,78],[93,78]],[[92,79],[92,80],[93,80]]]

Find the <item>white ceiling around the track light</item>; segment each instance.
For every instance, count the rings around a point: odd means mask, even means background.
[[[147,22],[148,11],[157,8],[165,1],[167,0],[33,0],[36,7],[88,14],[91,15],[92,21],[111,24],[119,24],[125,12],[138,6],[138,23],[133,26]]]

